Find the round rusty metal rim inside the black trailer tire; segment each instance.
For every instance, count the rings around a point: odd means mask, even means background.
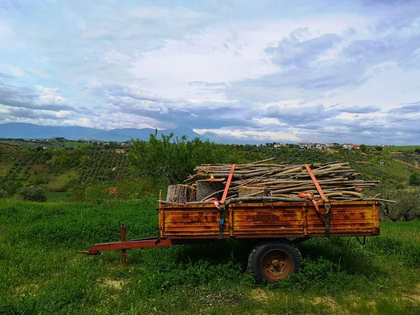
[[[292,273],[293,262],[290,256],[281,249],[272,249],[262,256],[261,269],[265,276],[279,281]]]

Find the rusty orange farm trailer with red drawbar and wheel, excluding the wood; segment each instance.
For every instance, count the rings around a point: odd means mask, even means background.
[[[218,207],[217,207],[218,206]],[[328,206],[321,211],[322,207]],[[88,255],[101,251],[172,246],[223,239],[252,240],[248,270],[256,281],[280,281],[297,272],[302,260],[296,244],[311,237],[379,235],[377,201],[260,202],[159,204],[159,236],[94,244]]]

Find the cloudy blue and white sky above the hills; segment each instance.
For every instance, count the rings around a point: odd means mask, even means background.
[[[420,0],[0,0],[0,123],[419,144]]]

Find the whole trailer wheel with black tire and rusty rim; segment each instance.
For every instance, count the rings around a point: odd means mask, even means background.
[[[297,272],[302,254],[287,240],[256,245],[248,257],[248,271],[257,283],[276,283]]]

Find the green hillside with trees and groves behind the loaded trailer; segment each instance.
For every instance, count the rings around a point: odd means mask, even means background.
[[[176,138],[173,134],[158,138],[157,133],[151,134],[148,141],[131,142],[132,146],[125,146],[127,154],[118,154],[111,146],[44,149],[0,145],[0,197],[10,197],[21,188],[35,186],[50,192],[72,191],[73,200],[95,194],[96,200],[131,199],[183,183],[197,165],[244,164],[267,158],[293,164],[350,162],[360,173],[360,179],[379,180],[382,187],[391,190],[420,184],[418,172],[412,173],[405,165],[394,163],[398,165],[393,167],[398,169],[379,167],[379,162],[391,160],[378,151],[226,145]],[[106,188],[110,187],[118,188],[118,195],[106,195]]]

